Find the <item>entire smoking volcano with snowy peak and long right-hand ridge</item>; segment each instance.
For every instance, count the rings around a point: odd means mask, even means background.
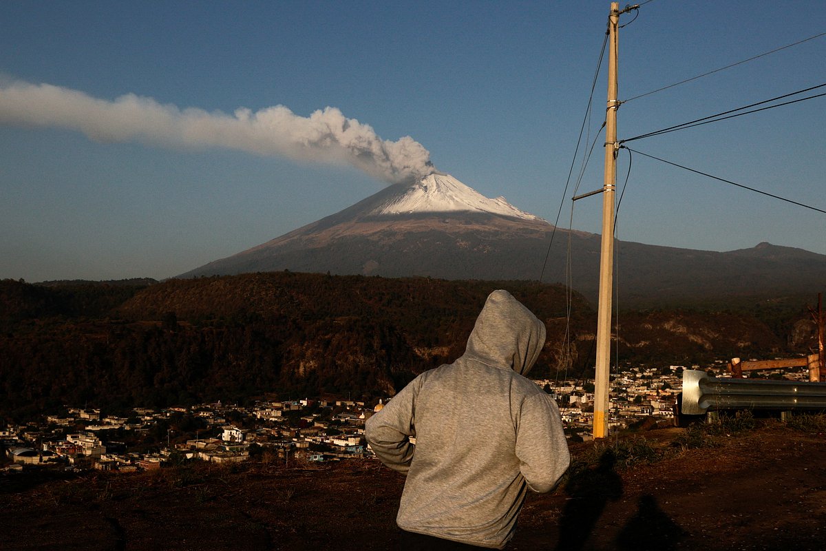
[[[826,255],[767,243],[720,253],[617,241],[615,255],[627,306],[811,294],[826,281]],[[541,276],[546,283],[570,281],[593,300],[599,259],[600,235],[557,229],[504,197],[491,199],[449,174],[431,173],[178,277],[282,270],[391,278]]]

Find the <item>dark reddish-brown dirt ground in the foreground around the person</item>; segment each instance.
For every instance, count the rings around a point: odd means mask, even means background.
[[[824,549],[826,435],[779,423],[530,494],[506,549]],[[572,447],[575,456],[593,444]],[[661,456],[662,457],[662,456]],[[394,549],[404,478],[376,461],[0,476],[0,550]]]

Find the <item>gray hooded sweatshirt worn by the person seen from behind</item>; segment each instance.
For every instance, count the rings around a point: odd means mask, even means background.
[[[544,342],[544,324],[494,291],[462,357],[421,373],[368,419],[373,452],[407,475],[402,530],[501,549],[527,488],[556,487],[570,463],[559,410],[524,377]]]

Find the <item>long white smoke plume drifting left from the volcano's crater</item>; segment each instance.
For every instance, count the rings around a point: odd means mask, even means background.
[[[430,152],[410,136],[382,140],[371,126],[325,107],[298,116],[277,105],[234,114],[179,109],[151,97],[126,94],[114,101],[78,90],[0,82],[0,124],[55,126],[101,142],[141,141],[173,147],[222,147],[322,163],[352,164],[388,183],[434,172]]]

